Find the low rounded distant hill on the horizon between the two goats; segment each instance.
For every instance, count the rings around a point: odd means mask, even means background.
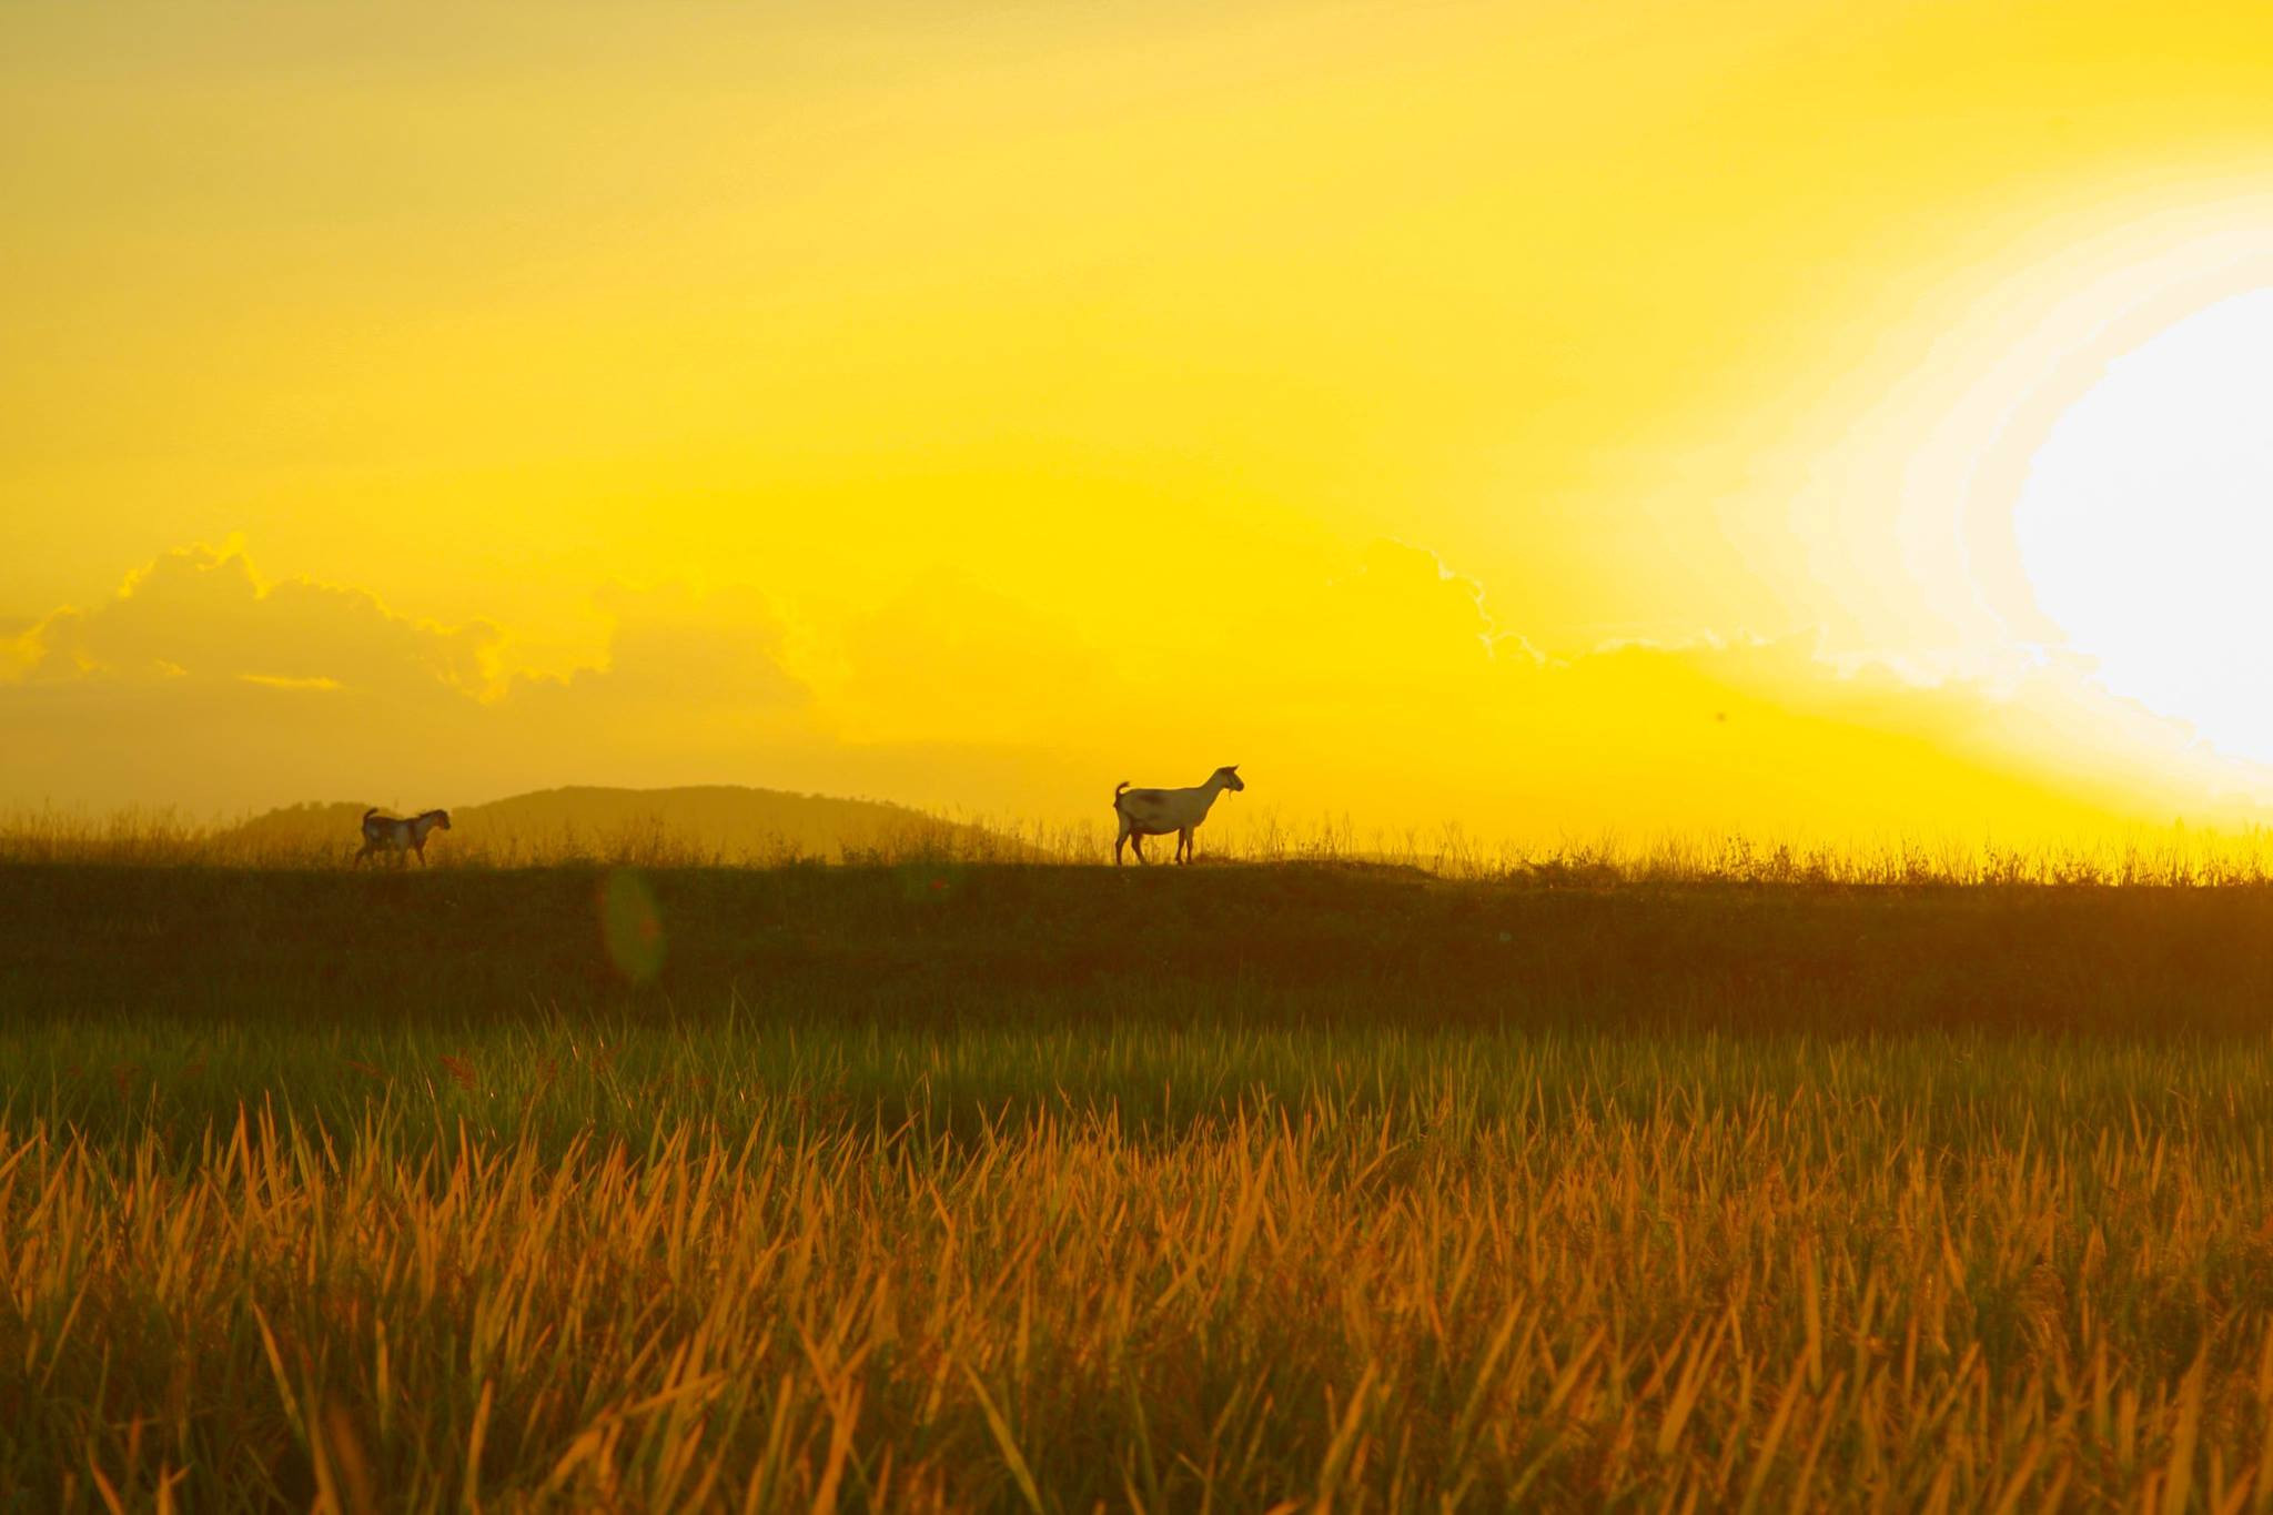
[[[293,804],[255,815],[216,840],[248,854],[352,852],[359,802]],[[834,800],[773,788],[546,788],[450,811],[430,843],[484,861],[621,859],[643,863],[766,863],[786,859],[971,856],[1034,849],[882,800]]]

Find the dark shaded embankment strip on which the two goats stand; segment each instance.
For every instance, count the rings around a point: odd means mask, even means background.
[[[2234,1033],[2273,893],[1559,890],[1362,868],[0,870],[0,1006]],[[652,913],[650,913],[652,904]],[[659,961],[659,965],[657,965]],[[643,981],[636,974],[646,972]]]

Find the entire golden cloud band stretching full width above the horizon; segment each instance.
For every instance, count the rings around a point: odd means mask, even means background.
[[[796,636],[752,588],[611,586],[596,609],[605,661],[532,677],[502,666],[509,638],[486,620],[266,581],[241,552],[168,552],[0,641],[0,800],[434,804],[741,781],[1089,815],[1116,779],[1241,761],[1248,804],[1291,818],[2014,836],[2257,820],[2250,797],[2273,793],[2071,661],[1928,677],[1830,661],[1814,631],[1548,661],[1514,631],[1521,606],[1396,541],[1323,584],[1180,606],[1164,634],[1184,641],[1159,650],[1084,643],[946,577]]]

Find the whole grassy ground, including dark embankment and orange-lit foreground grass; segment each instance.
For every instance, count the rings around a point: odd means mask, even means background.
[[[0,1510],[2266,1508],[2273,888],[0,868]]]

